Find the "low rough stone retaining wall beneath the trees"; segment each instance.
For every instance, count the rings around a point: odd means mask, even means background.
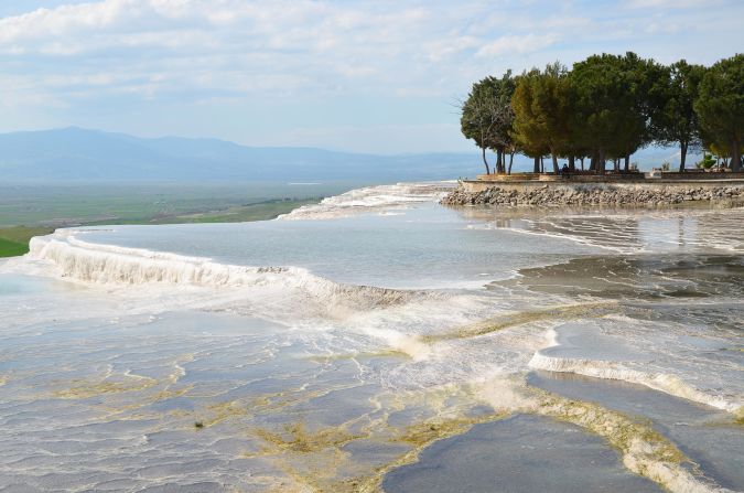
[[[488,187],[468,192],[459,185],[441,203],[445,205],[624,205],[664,206],[687,202],[744,203],[744,185],[667,187],[613,185],[542,185],[538,187]]]

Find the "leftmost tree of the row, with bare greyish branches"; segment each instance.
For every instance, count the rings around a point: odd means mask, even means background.
[[[486,77],[475,84],[462,104],[460,119],[463,135],[473,139],[481,148],[486,173],[489,173],[486,160],[486,149],[496,151],[494,170],[504,173],[506,170],[506,151],[513,147],[511,95],[514,94],[514,77],[507,71],[502,78]]]

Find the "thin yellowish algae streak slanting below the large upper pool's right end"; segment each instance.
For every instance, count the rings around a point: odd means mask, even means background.
[[[456,339],[470,339],[481,335],[487,335],[514,326],[528,323],[549,321],[561,321],[578,318],[600,318],[614,312],[618,306],[616,302],[582,303],[552,307],[542,310],[528,310],[511,313],[503,317],[483,320],[477,323],[456,328],[452,331],[439,334],[424,335],[421,342],[432,344],[439,341],[450,341]]]

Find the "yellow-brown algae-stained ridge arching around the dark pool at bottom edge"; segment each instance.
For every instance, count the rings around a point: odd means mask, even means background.
[[[259,452],[246,457],[270,460],[285,475],[287,491],[374,493],[381,491],[388,472],[416,462],[432,443],[462,435],[475,425],[524,412],[570,422],[602,437],[619,452],[625,468],[669,491],[714,491],[686,469],[691,465],[694,471],[696,464],[648,421],[528,387],[520,377],[498,379],[495,385],[487,382],[381,394],[374,399],[386,412],[370,417],[362,427],[355,427],[359,421],[353,420],[311,429],[296,421],[277,429],[254,429],[251,435],[262,446]],[[489,392],[484,393],[484,387]],[[472,415],[484,403],[489,410]],[[410,417],[395,426],[391,422],[399,420],[390,421],[392,411]],[[390,452],[389,460],[367,463],[364,457],[354,454],[355,448],[347,447],[357,442],[385,448]]]

